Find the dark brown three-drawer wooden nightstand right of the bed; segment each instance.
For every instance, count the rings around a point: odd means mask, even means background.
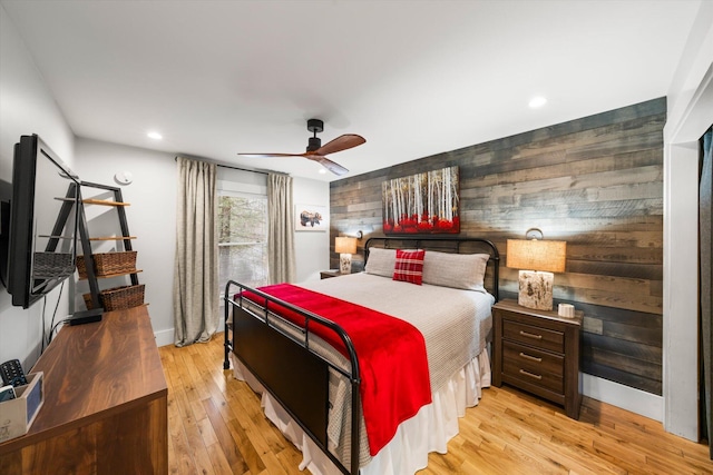
[[[565,407],[578,419],[582,403],[579,335],[584,313],[565,318],[515,300],[492,306],[495,347],[492,384],[507,383]]]

